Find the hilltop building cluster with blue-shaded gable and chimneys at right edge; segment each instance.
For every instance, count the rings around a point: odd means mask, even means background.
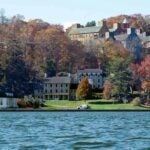
[[[131,28],[129,21],[124,18],[122,23],[114,23],[113,28],[105,33],[105,39],[119,41],[124,48],[127,48],[135,57],[136,62],[141,59],[142,48],[148,53],[150,48],[150,36],[141,29]]]

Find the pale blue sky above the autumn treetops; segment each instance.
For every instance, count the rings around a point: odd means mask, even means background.
[[[65,27],[86,24],[120,14],[150,14],[149,0],[0,0],[7,17],[21,14],[25,20],[42,19]]]

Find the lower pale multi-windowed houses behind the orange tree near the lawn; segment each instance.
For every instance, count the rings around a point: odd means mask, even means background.
[[[102,88],[105,80],[101,69],[84,69],[67,76],[58,75],[45,77],[40,85],[35,86],[34,96],[44,100],[75,100],[78,84],[83,77],[88,77],[93,89]]]

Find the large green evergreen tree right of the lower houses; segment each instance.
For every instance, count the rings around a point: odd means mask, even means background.
[[[112,95],[119,98],[126,97],[132,85],[132,72],[129,68],[130,60],[117,58],[110,62],[110,75],[108,77],[112,84]]]

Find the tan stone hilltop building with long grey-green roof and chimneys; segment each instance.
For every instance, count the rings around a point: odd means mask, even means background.
[[[71,40],[78,40],[85,44],[89,40],[105,38],[105,32],[108,31],[106,21],[98,23],[98,26],[83,27],[80,24],[74,24],[68,31]]]

